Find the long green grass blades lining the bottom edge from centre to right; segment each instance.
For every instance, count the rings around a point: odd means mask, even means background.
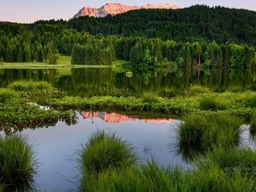
[[[238,171],[229,175],[213,161],[196,165],[192,171],[163,168],[154,161],[122,171],[105,171],[83,191],[255,191],[255,181]]]

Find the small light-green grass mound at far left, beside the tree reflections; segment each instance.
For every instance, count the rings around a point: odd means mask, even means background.
[[[48,82],[33,82],[20,80],[12,82],[9,86],[9,89],[15,91],[33,91],[33,90],[47,90],[52,87]]]

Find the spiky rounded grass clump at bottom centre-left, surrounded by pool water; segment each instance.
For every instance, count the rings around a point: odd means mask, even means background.
[[[136,162],[137,155],[132,146],[117,137],[116,133],[97,131],[80,150],[81,188],[87,191],[90,183],[102,172],[112,169],[122,171]]]

